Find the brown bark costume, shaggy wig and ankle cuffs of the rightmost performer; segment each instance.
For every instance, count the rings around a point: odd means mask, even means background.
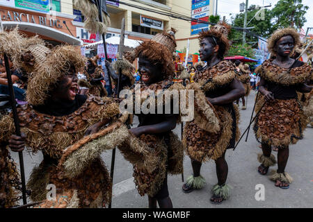
[[[274,50],[276,43],[282,37],[287,36],[293,37],[294,46],[297,46],[300,41],[298,33],[293,28],[276,31],[268,41],[268,49],[273,56],[277,55]],[[311,67],[304,62],[297,61],[289,71],[289,69],[275,65],[273,59],[270,59],[266,60],[262,66],[259,66],[256,72],[264,80],[264,88],[273,93],[275,100],[271,103],[265,103],[264,96],[259,94],[255,112],[259,112],[262,105],[264,103],[265,105],[255,120],[253,128],[255,137],[259,143],[262,143],[262,147],[272,145],[277,146],[279,150],[287,149],[289,144],[296,144],[299,139],[303,139],[303,130],[307,125],[307,117],[300,105],[297,90],[310,77]],[[259,154],[258,160],[262,163],[261,166],[266,169],[276,163],[274,155]],[[264,174],[266,173],[267,171]],[[271,180],[286,184],[287,186],[282,188],[287,189],[293,179],[287,172],[273,172]]]

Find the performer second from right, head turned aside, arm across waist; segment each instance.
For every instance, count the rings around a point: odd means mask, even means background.
[[[225,152],[234,148],[239,139],[239,110],[233,102],[245,94],[243,85],[236,79],[233,63],[223,60],[230,48],[229,29],[223,23],[200,33],[200,58],[207,66],[195,75],[195,83],[187,87],[195,90],[195,119],[184,128],[184,145],[191,158],[193,176],[182,190],[189,193],[202,189],[205,180],[200,175],[201,165],[214,160],[218,184],[212,189],[211,203],[221,203],[229,197]]]

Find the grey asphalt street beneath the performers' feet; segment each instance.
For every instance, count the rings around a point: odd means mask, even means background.
[[[248,97],[247,110],[241,110],[241,133],[248,126],[252,112],[256,92],[252,91]],[[240,106],[241,108],[241,106]],[[175,133],[180,136],[180,125],[175,128]],[[182,192],[182,176],[168,176],[168,189],[174,207],[195,207],[195,208],[223,208],[223,207],[312,207],[313,206],[313,128],[305,130],[304,139],[296,145],[290,146],[290,155],[286,171],[294,178],[289,189],[280,189],[274,186],[274,182],[267,176],[257,173],[257,153],[261,152],[258,147],[252,128],[245,142],[246,136],[235,151],[228,150],[226,160],[229,167],[227,184],[232,186],[229,200],[221,205],[210,203],[211,188],[216,185],[216,169],[214,162],[207,162],[202,165],[201,174],[207,184],[202,190],[196,190],[189,194]],[[111,151],[102,154],[102,158],[110,170]],[[277,153],[273,152],[277,157]],[[17,153],[12,154],[18,162]],[[24,163],[26,180],[29,179],[31,170],[36,164],[40,164],[42,154],[32,155],[24,151]],[[271,169],[277,169],[271,167]],[[113,208],[145,208],[147,207],[147,196],[140,196],[132,178],[132,166],[124,160],[119,151],[116,152],[115,170],[113,179]],[[184,179],[191,176],[191,162],[188,156],[184,158]],[[264,186],[264,200],[257,200],[255,195],[259,188]]]

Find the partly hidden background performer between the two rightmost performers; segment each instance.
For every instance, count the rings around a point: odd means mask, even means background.
[[[250,94],[250,71],[249,71],[249,65],[240,63],[238,64],[238,60],[236,60],[236,78],[241,81],[243,86],[245,87],[246,94],[241,97],[242,101],[242,108],[241,110],[246,110],[246,99],[245,96],[248,96]],[[239,105],[239,99],[236,101],[236,104]]]

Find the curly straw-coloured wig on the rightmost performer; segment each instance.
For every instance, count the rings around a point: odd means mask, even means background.
[[[278,29],[271,35],[271,37],[268,39],[268,51],[271,53],[272,56],[276,56],[276,51],[274,49],[275,44],[280,40],[282,37],[291,35],[294,38],[294,46],[298,46],[300,44],[300,35],[294,28],[282,28]],[[294,53],[294,51],[291,52],[291,55]]]

